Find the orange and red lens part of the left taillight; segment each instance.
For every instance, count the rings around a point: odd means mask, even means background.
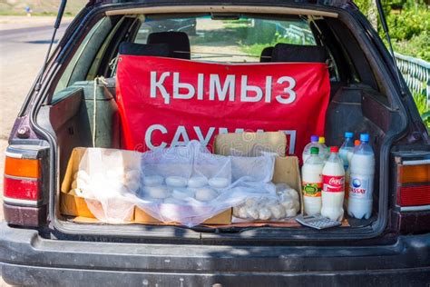
[[[40,160],[5,158],[5,203],[35,205],[40,199]]]

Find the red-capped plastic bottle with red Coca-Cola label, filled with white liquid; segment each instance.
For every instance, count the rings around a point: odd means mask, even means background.
[[[337,146],[330,147],[330,156],[322,170],[321,215],[332,220],[344,218],[345,170]]]

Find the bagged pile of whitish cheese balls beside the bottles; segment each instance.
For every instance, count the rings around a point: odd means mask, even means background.
[[[281,220],[296,216],[300,210],[298,192],[287,184],[277,184],[277,194],[249,197],[233,207],[233,216],[249,221]]]

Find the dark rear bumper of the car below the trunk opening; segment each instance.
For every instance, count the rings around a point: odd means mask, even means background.
[[[214,246],[44,240],[0,224],[5,282],[20,285],[424,285],[430,234],[389,246]]]

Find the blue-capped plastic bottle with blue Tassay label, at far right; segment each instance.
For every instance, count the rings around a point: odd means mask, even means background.
[[[358,219],[369,219],[372,214],[375,153],[368,134],[360,134],[360,142],[351,158],[347,213]]]

